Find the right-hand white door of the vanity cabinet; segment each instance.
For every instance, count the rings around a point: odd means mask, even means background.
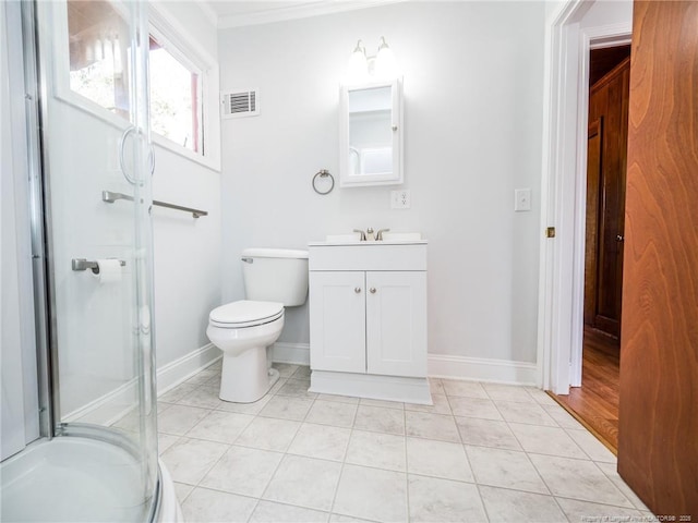
[[[366,272],[369,374],[426,376],[426,272]]]

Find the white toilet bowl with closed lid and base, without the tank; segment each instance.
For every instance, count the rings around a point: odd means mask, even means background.
[[[276,384],[279,373],[267,368],[266,348],[284,328],[284,305],[242,300],[210,312],[206,336],[222,351],[221,400],[257,401]]]

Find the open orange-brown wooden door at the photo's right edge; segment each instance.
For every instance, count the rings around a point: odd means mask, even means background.
[[[663,521],[696,522],[698,2],[633,19],[618,472]]]

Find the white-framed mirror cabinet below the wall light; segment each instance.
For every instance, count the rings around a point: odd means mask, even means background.
[[[395,81],[342,87],[340,186],[402,183],[400,86]]]

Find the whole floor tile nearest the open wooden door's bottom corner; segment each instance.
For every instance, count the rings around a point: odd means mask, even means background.
[[[631,507],[592,461],[541,454],[529,457],[554,496]]]

